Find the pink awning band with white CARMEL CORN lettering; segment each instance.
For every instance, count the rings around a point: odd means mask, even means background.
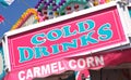
[[[131,63],[130,53],[131,49],[127,49],[56,61],[51,59],[49,63],[43,62],[41,65],[35,67],[10,71],[4,80],[33,80],[34,78],[58,75],[67,70],[80,71],[76,74],[76,80],[82,80],[81,77],[83,74],[85,77],[90,77],[88,69],[95,70],[123,63]]]

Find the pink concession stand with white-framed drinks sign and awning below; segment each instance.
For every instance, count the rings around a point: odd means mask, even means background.
[[[4,80],[130,80],[129,28],[128,8],[111,1],[8,31]]]

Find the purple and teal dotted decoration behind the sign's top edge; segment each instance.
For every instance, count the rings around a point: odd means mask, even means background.
[[[43,22],[94,5],[90,0],[40,0],[35,9],[38,11],[39,22]]]

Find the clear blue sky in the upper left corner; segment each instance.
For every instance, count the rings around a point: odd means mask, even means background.
[[[34,8],[39,0],[14,0],[14,2],[7,8],[0,5],[0,14],[4,16],[5,21],[0,24],[0,38],[5,31],[9,31],[20,16],[28,8]]]

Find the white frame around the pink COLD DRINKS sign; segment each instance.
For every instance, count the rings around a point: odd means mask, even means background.
[[[83,53],[83,54],[80,54],[80,55],[92,54],[92,53],[96,53],[96,52],[99,52],[99,51],[105,51],[105,50],[109,50],[109,49],[114,49],[114,48],[119,48],[119,46],[122,46],[122,45],[123,46],[126,46],[126,45],[129,46],[129,44],[130,44],[130,41],[129,41],[129,38],[128,38],[128,34],[129,32],[127,32],[128,28],[126,27],[127,25],[126,25],[126,18],[123,16],[123,14],[124,14],[123,13],[123,8],[121,8],[118,2],[112,1],[112,2],[107,3],[107,4],[97,5],[97,6],[87,9],[87,10],[82,10],[80,12],[73,12],[72,14],[60,16],[58,18],[48,19],[48,21],[43,22],[43,23],[34,24],[34,25],[31,25],[31,26],[27,26],[27,27],[22,27],[22,28],[19,28],[19,29],[5,32],[4,37],[2,39],[2,43],[3,43],[3,52],[4,52],[4,57],[5,57],[5,65],[9,68],[9,71],[12,70],[11,69],[11,67],[12,67],[11,65],[13,64],[13,63],[10,62],[10,53],[9,53],[10,52],[9,51],[9,46],[10,45],[9,45],[9,42],[8,42],[8,39],[11,36],[23,34],[23,32],[26,32],[26,31],[29,31],[29,30],[34,30],[34,29],[44,27],[46,25],[59,23],[59,22],[67,21],[67,19],[73,18],[73,17],[78,17],[78,16],[81,16],[81,15],[84,15],[84,14],[88,14],[88,13],[93,13],[93,12],[100,11],[100,10],[104,10],[104,9],[108,9],[110,6],[116,6],[118,9],[120,21],[121,21],[121,25],[123,27],[123,31],[124,31],[124,36],[126,36],[127,41],[122,42],[122,43],[105,46],[105,48],[99,48],[99,49],[97,49],[95,51],[90,51],[90,52],[86,52],[86,53]],[[71,16],[71,17],[69,17],[69,16]],[[78,54],[78,55],[72,55],[72,56],[80,56],[80,55]]]

